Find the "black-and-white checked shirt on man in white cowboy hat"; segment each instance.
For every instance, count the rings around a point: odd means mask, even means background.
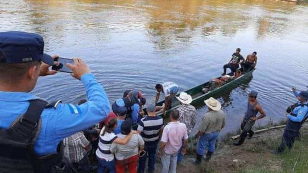
[[[196,124],[197,111],[196,108],[190,104],[182,104],[180,108],[177,108],[180,114],[180,123],[186,124],[187,133],[192,132]]]

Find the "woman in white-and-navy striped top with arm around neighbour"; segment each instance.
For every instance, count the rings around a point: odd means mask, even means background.
[[[99,162],[99,173],[104,173],[106,169],[108,169],[110,173],[116,172],[114,154],[110,152],[111,143],[126,144],[132,138],[132,135],[136,133],[136,131],[131,131],[125,138],[118,138],[114,133],[116,127],[117,120],[111,118],[99,135],[99,144],[96,150],[96,157]]]

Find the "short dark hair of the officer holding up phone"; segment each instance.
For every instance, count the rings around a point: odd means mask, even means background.
[[[2,54],[0,53],[0,59]],[[19,82],[30,67],[38,66],[41,61],[8,63],[0,62],[0,81]]]

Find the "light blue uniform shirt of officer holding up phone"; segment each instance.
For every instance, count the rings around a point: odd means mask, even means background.
[[[76,132],[80,132],[106,118],[110,111],[109,100],[102,86],[91,73],[84,74],[81,81],[86,89],[87,102],[77,106],[58,104],[56,108],[45,108],[41,115],[41,129],[34,144],[37,155],[56,152],[59,142]],[[0,91],[0,128],[23,115],[29,100],[37,97],[26,92]]]

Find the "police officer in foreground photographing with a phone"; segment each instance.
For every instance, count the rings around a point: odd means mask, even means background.
[[[67,64],[87,94],[81,105],[53,104],[29,93],[39,76],[53,75],[56,64],[43,53],[34,33],[0,33],[0,172],[49,172],[58,162],[59,142],[106,118],[109,100],[88,66],[79,58]]]

